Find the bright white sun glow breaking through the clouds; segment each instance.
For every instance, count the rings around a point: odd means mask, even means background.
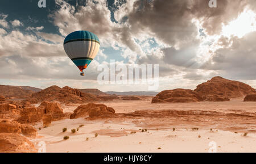
[[[236,20],[226,26],[222,24],[222,35],[243,37],[246,33],[256,31],[256,14],[249,10],[242,12]]]

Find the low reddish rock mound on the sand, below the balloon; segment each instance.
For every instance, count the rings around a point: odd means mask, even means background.
[[[86,105],[81,105],[76,108],[70,119],[77,119],[79,117],[109,117],[113,116],[115,113],[114,109],[107,107],[104,104],[93,104],[89,103]]]

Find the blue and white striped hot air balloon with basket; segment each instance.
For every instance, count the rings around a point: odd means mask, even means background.
[[[92,32],[75,31],[65,37],[64,49],[79,68],[80,75],[84,76],[83,70],[88,67],[100,49],[100,40]]]

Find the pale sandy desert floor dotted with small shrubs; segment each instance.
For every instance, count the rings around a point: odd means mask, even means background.
[[[256,152],[254,102],[236,99],[231,102],[151,104],[147,99],[101,103],[113,107],[119,116],[55,121],[38,131],[39,137],[33,141],[46,142],[46,152],[208,152],[214,148],[216,152]],[[72,112],[77,106],[79,104],[63,107],[65,112]],[[159,110],[183,112],[179,115],[154,113]],[[188,112],[190,110],[193,112]],[[134,111],[146,111],[147,115],[125,114]],[[194,115],[195,111],[208,112]],[[80,125],[84,126],[76,133],[71,132]],[[37,129],[40,127],[43,127],[41,123],[35,125]],[[192,130],[195,127],[199,130]],[[67,128],[67,132],[62,132],[63,128]],[[145,128],[147,131],[142,132]],[[245,132],[247,136],[243,136]],[[63,140],[64,136],[69,139]]]

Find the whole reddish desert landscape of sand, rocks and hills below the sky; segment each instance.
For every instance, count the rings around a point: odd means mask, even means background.
[[[256,152],[255,90],[242,82],[155,96],[28,89],[0,87],[0,152]]]

